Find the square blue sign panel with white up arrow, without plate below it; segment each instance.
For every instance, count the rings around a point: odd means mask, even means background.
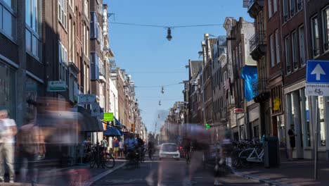
[[[307,61],[307,83],[329,84],[329,61]]]

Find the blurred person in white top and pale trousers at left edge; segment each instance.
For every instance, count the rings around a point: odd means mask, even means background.
[[[0,111],[0,182],[4,182],[4,162],[9,170],[9,182],[15,182],[14,143],[17,128],[15,120],[8,118],[6,110]],[[4,161],[5,160],[5,161]]]

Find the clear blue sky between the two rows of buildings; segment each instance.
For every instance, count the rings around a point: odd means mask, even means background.
[[[243,8],[243,0],[104,0],[108,12],[115,13],[110,22],[143,25],[206,25],[223,24],[226,17],[253,21]],[[226,35],[222,25],[213,27],[181,27],[172,30],[172,41],[166,39],[162,27],[109,25],[110,47],[117,66],[127,70],[135,81],[136,97],[148,131],[157,131],[163,124],[166,111],[175,101],[183,100],[183,84],[188,79],[188,59],[198,60],[205,33]],[[138,88],[139,86],[139,88]],[[162,105],[158,102],[161,100]],[[160,119],[157,118],[161,113]]]

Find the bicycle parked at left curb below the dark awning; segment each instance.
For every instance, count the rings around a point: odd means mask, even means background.
[[[97,168],[100,166],[102,168],[113,168],[115,166],[115,159],[103,147],[95,145],[91,149],[89,164],[91,168],[95,165],[97,165]]]

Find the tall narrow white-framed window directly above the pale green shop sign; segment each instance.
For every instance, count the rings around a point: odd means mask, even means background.
[[[58,41],[58,73],[59,80],[67,80],[67,50],[65,46]]]

